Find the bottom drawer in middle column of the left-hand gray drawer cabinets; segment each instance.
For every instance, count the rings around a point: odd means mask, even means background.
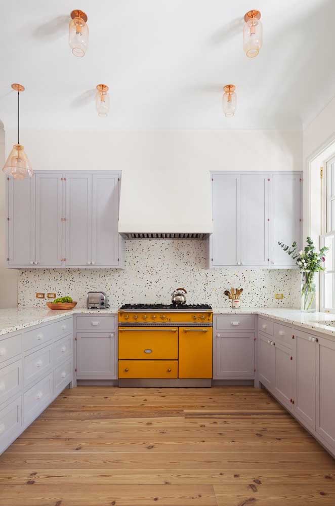
[[[53,396],[53,381],[51,372],[24,394],[24,425],[30,424],[50,404]]]

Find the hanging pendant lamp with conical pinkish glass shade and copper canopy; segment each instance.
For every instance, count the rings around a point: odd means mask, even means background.
[[[17,144],[14,144],[9,157],[6,160],[3,171],[7,176],[12,176],[14,179],[31,178],[33,170],[31,168],[28,157],[24,151],[24,146],[20,144],[20,92],[24,92],[24,86],[14,83],[13,90],[17,91],[18,101],[18,124],[17,124]]]

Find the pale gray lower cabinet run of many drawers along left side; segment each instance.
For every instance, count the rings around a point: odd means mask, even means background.
[[[73,379],[72,316],[0,335],[0,453]]]

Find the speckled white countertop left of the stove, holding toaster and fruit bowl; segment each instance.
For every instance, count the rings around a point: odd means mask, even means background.
[[[55,311],[46,308],[10,308],[0,309],[0,335],[21,330],[32,325],[46,323],[63,316],[73,314],[117,314],[118,308],[87,309],[75,307],[69,311]]]

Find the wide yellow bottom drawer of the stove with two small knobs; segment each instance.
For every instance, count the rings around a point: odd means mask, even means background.
[[[119,360],[119,378],[177,378],[178,360]]]

